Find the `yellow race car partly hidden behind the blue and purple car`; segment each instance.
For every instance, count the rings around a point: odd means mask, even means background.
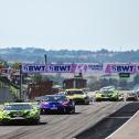
[[[65,95],[75,100],[75,104],[86,104],[89,105],[89,96],[83,90],[77,88],[66,89]]]

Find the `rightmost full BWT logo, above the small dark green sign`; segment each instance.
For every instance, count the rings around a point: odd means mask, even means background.
[[[111,72],[133,72],[135,66],[133,65],[111,65],[110,71]]]

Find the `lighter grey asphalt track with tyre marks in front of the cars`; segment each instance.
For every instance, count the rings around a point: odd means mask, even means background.
[[[125,101],[93,103],[76,106],[74,115],[42,115],[39,125],[1,125],[0,139],[72,139],[125,105]]]

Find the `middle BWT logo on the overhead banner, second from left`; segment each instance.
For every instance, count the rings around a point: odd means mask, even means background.
[[[71,72],[71,65],[49,65],[49,72]]]

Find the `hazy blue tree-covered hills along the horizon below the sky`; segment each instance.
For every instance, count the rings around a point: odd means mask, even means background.
[[[44,55],[47,55],[47,62],[58,63],[89,63],[89,62],[138,62],[139,50],[137,51],[125,51],[115,52],[108,50],[100,51],[45,51],[44,49],[34,47],[12,47],[12,49],[0,49],[1,58],[9,62],[32,62],[32,63],[44,63]]]

